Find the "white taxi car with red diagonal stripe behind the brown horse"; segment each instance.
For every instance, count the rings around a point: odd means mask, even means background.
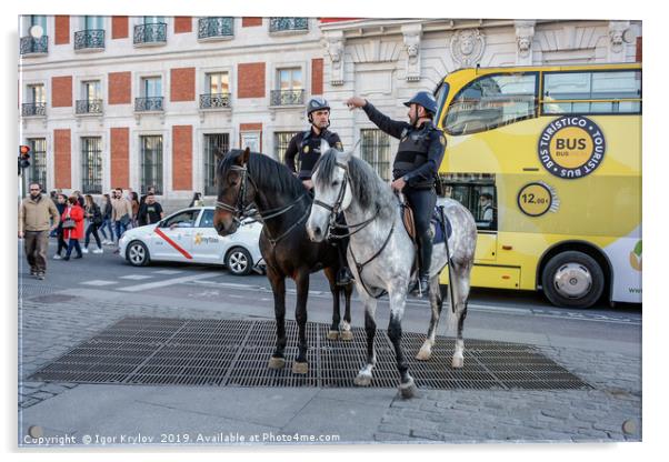
[[[262,225],[247,220],[234,234],[220,237],[213,229],[213,207],[192,207],[156,224],[133,228],[119,241],[119,254],[134,267],[151,261],[222,264],[232,274],[262,272],[258,240]]]

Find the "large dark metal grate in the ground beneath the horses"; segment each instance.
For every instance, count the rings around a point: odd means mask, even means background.
[[[217,386],[349,388],[366,361],[367,337],[327,340],[327,324],[308,323],[307,375],[291,372],[298,330],[287,321],[287,364],[267,363],[274,348],[273,321],[126,318],[42,368],[29,380],[74,383],[126,383]],[[419,388],[473,390],[562,390],[591,386],[533,346],[466,340],[465,369],[450,368],[453,339],[438,338],[428,362],[413,359],[423,334],[405,332],[402,345]],[[396,388],[398,372],[386,332],[375,339],[377,366],[371,386]]]

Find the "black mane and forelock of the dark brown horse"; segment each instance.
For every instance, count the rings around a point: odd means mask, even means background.
[[[222,175],[237,163],[237,159],[243,152],[242,149],[230,150],[220,162],[217,173]],[[288,167],[261,152],[251,152],[247,167],[258,188],[264,191],[286,192],[292,197],[304,193],[302,182],[292,174]]]

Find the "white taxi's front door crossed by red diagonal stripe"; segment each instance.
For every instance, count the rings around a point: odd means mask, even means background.
[[[151,254],[156,260],[193,261],[192,239],[200,209],[177,212],[160,222],[153,231]]]

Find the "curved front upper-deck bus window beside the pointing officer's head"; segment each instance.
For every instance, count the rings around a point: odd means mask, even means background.
[[[448,108],[443,128],[469,134],[536,116],[537,74],[493,74],[465,87]]]

